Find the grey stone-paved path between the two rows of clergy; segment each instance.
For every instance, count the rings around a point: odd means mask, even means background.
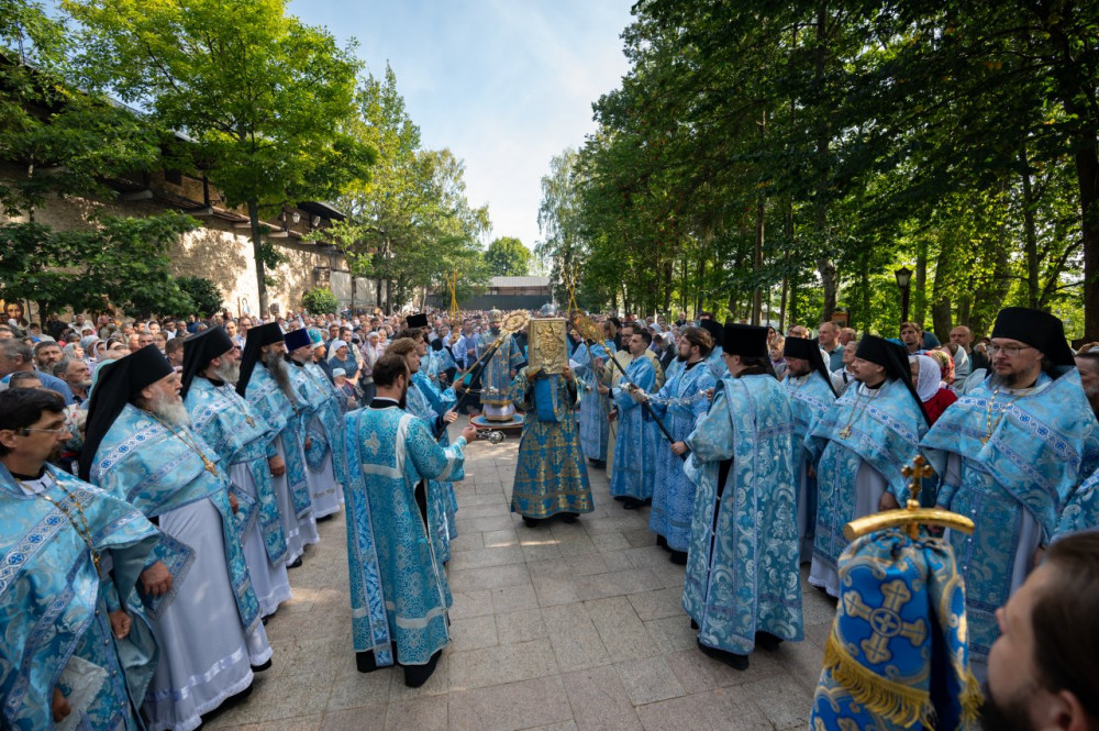
[[[355,669],[343,513],[290,572],[293,600],[267,625],[274,667],[247,702],[204,728],[804,729],[834,606],[802,577],[806,641],[757,651],[746,672],[704,656],[680,607],[684,569],[648,532],[648,510],[611,500],[529,529],[509,512],[518,438],[467,447],[455,485],[452,644],[422,688],[399,668]]]

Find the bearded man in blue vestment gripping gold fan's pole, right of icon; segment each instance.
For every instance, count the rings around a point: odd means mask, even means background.
[[[684,473],[682,455],[687,453],[688,434],[710,406],[706,391],[713,388],[714,380],[706,367],[706,357],[712,347],[713,339],[706,330],[684,329],[676,358],[682,363],[682,369],[651,398],[653,411],[664,420],[675,441],[668,444],[662,436],[654,445],[656,481],[648,529],[656,533],[656,542],[671,552],[671,562],[680,565],[687,563],[695,514],[695,483]],[[633,397],[642,395],[634,391]]]

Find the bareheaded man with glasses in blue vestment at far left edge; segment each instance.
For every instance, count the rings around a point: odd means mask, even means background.
[[[108,595],[133,595],[159,536],[133,506],[48,464],[65,423],[52,391],[0,392],[0,727],[138,731],[156,641],[140,603],[112,611]]]

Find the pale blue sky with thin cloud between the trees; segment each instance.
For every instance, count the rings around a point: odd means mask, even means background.
[[[423,144],[465,160],[469,202],[492,237],[539,239],[550,158],[595,130],[591,102],[628,70],[632,0],[292,0],[290,12],[388,62]]]

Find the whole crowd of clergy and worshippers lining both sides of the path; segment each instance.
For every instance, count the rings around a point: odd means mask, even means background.
[[[607,472],[622,509],[647,509],[655,542],[685,566],[699,650],[734,668],[803,639],[807,565],[839,600],[813,709],[822,728],[892,728],[897,708],[923,718],[899,690],[893,710],[868,704],[852,678],[919,688],[944,649],[946,690],[924,700],[940,718],[968,718],[979,680],[989,718],[1021,722],[1040,691],[1069,718],[1099,718],[1099,674],[1075,672],[1094,654],[1025,624],[1042,611],[1094,623],[1099,609],[1099,346],[1074,352],[1047,313],[1009,308],[988,337],[957,326],[946,344],[914,322],[882,339],[833,322],[784,335],[706,312],[585,315],[559,368],[532,365],[528,331],[497,310],[8,314],[0,595],[18,590],[0,639],[5,727],[189,731],[246,697],[277,662],[265,624],[291,597],[288,571],[341,510],[357,666],[425,683],[449,642],[454,483],[477,434],[449,441],[459,413],[521,423],[511,508],[529,530],[591,512],[589,469]],[[933,473],[909,479],[918,455]],[[888,550],[851,540],[852,521],[915,505],[966,517],[972,534],[890,534]],[[861,561],[891,588],[861,589]],[[1090,573],[1072,568],[1087,561]],[[1069,584],[1081,600],[1051,607]],[[955,612],[933,617],[937,643],[901,617],[921,587],[964,587],[932,610]],[[873,632],[848,641],[887,610],[899,624],[880,644]],[[1039,636],[1055,654],[1033,647]],[[890,653],[919,658],[910,677],[884,668]],[[1004,660],[1028,653],[1032,685]]]

